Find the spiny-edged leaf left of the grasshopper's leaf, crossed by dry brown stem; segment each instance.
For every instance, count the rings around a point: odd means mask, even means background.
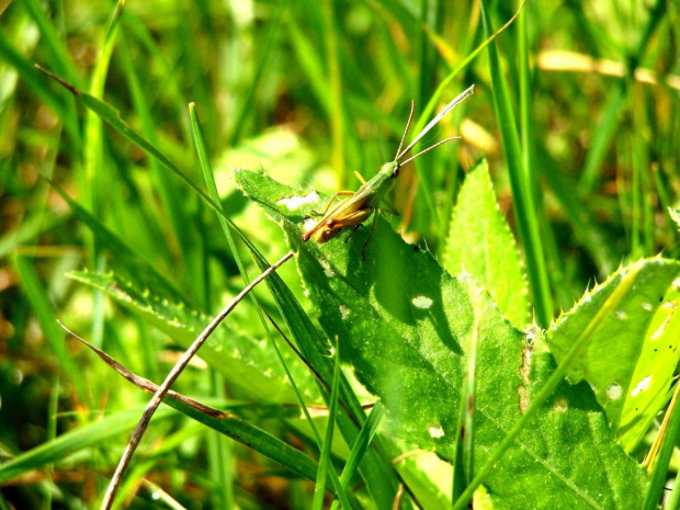
[[[72,272],[75,280],[99,288],[116,303],[129,308],[188,348],[211,321],[206,315],[139,290],[114,273]],[[276,354],[265,340],[241,332],[233,320],[225,320],[201,348],[201,356],[224,373],[246,395],[269,403],[292,403],[295,395],[287,384]],[[282,351],[303,394],[314,400],[317,394],[307,370],[288,351]]]

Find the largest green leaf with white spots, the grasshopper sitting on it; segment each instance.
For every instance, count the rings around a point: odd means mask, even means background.
[[[362,262],[367,228],[347,243],[340,235],[305,245],[303,220],[322,202],[262,174],[237,171],[236,179],[283,227],[321,326],[337,336],[358,378],[385,403],[389,432],[444,458],[452,457],[468,337],[474,314],[480,314],[475,468],[480,467],[554,370],[541,339],[528,342],[472,279],[453,279],[382,218]],[[566,382],[486,480],[497,508],[555,508],[556,494],[563,508],[636,508],[645,484],[590,387]]]

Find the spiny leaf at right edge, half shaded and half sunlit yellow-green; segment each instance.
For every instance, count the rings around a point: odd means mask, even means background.
[[[665,299],[667,293],[677,296],[672,285],[680,274],[680,263],[659,258],[637,264],[643,264],[644,271],[635,279],[634,292],[599,325],[569,372],[571,383],[590,383],[612,429],[632,437],[623,443],[627,449],[637,443],[665,404],[680,358],[677,338],[668,335],[676,327],[671,310],[677,301]],[[627,271],[620,269],[556,320],[548,331],[548,344],[558,362]]]

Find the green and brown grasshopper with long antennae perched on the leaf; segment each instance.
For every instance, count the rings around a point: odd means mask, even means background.
[[[446,106],[438,113],[428,125],[420,132],[413,140],[404,149],[404,141],[406,139],[406,135],[408,134],[408,129],[411,126],[411,121],[413,118],[413,109],[415,103],[411,101],[411,113],[408,116],[408,121],[406,123],[406,129],[404,131],[404,135],[401,136],[401,141],[399,143],[399,148],[397,149],[397,154],[393,161],[386,162],[381,167],[381,171],[373,177],[370,181],[364,181],[361,175],[358,174],[359,179],[362,181],[362,185],[355,192],[353,191],[338,191],[335,193],[326,208],[321,213],[321,219],[311,225],[309,228],[305,230],[303,234],[303,241],[308,241],[314,238],[317,242],[326,242],[333,237],[336,237],[340,230],[345,227],[354,227],[352,231],[344,239],[344,242],[349,241],[350,238],[354,235],[356,229],[366,222],[371,215],[373,214],[373,222],[371,224],[371,233],[369,237],[364,241],[361,247],[361,259],[365,260],[364,251],[371,237],[373,237],[373,231],[375,230],[375,224],[377,222],[378,212],[384,208],[393,214],[397,214],[392,206],[386,204],[385,196],[387,193],[394,188],[397,177],[399,175],[399,169],[412,161],[416,158],[419,158],[423,154],[439,147],[446,141],[460,139],[460,136],[452,136],[450,138],[445,138],[437,144],[428,147],[424,150],[421,150],[416,156],[411,156],[408,159],[405,159],[406,155],[409,150],[413,148],[418,141],[422,139],[424,135],[428,134],[432,127],[437,125],[439,121],[441,121],[444,115],[451,112],[457,104],[460,104],[463,100],[473,94],[475,86],[469,87],[461,94],[458,94],[453,101],[451,101]],[[340,202],[338,205],[331,208],[331,205],[339,196],[349,196],[349,199]]]

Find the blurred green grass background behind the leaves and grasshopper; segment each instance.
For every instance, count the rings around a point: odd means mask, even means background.
[[[494,26],[519,7],[491,2]],[[528,1],[521,16],[496,43],[522,120],[553,299],[546,314],[555,316],[622,261],[680,254],[667,213],[680,192],[679,12],[664,0],[565,0]],[[129,267],[44,178],[171,284],[151,292],[211,314],[243,285],[205,204],[34,64],[120,110],[203,186],[189,123],[194,102],[225,209],[270,261],[286,250],[282,236],[235,190],[231,167],[263,169],[303,189],[356,189],[354,171],[369,178],[394,157],[411,99],[418,118],[435,94],[441,106],[475,83],[475,95],[428,137],[460,134],[462,143],[405,169],[395,190],[395,228],[441,253],[458,186],[481,157],[505,216],[518,224],[487,50],[458,69],[486,37],[479,3],[468,1],[129,0],[122,10],[103,1],[2,2],[2,456],[148,398],[67,339],[56,319],[154,381],[178,356],[169,336],[66,276],[84,268],[125,274]],[[306,305],[293,265],[282,274]],[[237,315],[238,328],[260,338],[256,311]],[[252,399],[240,386],[197,362],[177,388]],[[303,441],[282,420],[254,420]],[[126,438],[11,480],[0,489],[0,508],[97,506]],[[185,418],[159,421],[145,444],[126,488],[135,508],[165,498],[147,480],[188,508],[234,500],[241,508],[306,508],[309,486]]]

